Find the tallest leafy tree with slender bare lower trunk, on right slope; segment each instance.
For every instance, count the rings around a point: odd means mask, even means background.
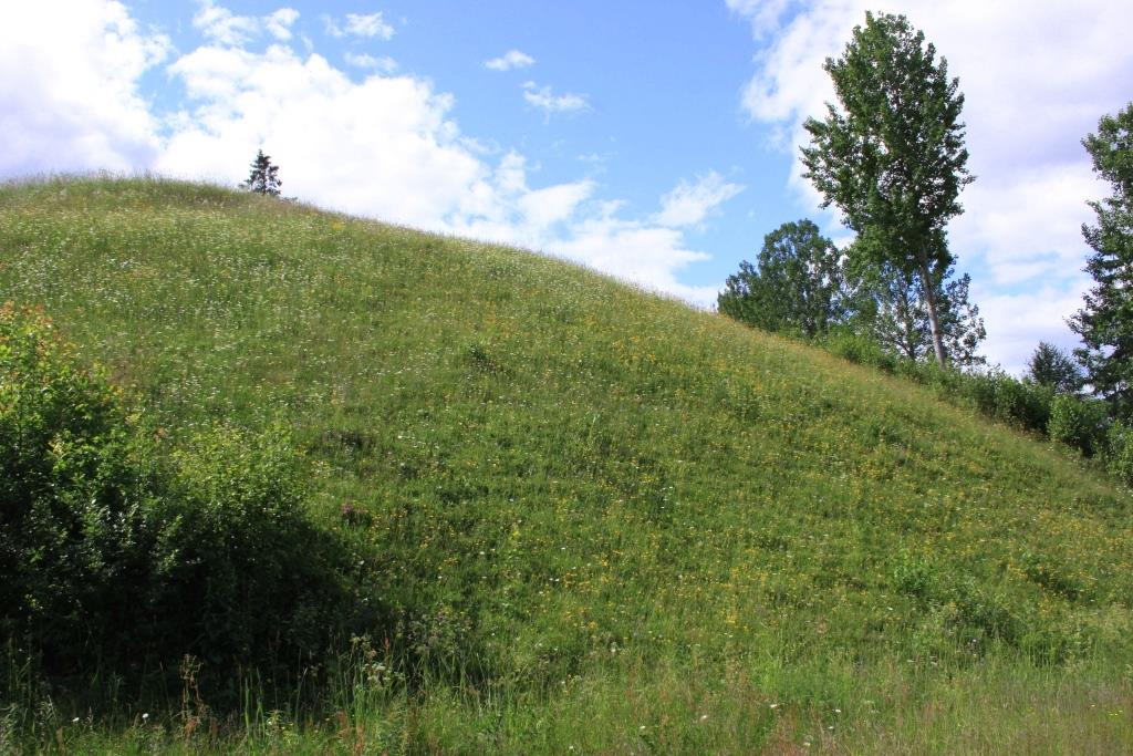
[[[904,16],[866,14],[866,26],[837,60],[826,59],[841,110],[827,104],[826,120],[809,119],[811,146],[803,147],[804,176],[834,204],[874,261],[917,278],[936,359],[947,358],[940,323],[945,278],[955,262],[945,226],[962,212],[966,169],[964,96]]]

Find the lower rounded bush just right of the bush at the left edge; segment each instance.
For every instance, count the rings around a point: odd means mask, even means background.
[[[148,602],[160,645],[292,666],[321,652],[346,613],[341,555],[306,516],[289,434],[197,433],[172,455],[164,487]]]

